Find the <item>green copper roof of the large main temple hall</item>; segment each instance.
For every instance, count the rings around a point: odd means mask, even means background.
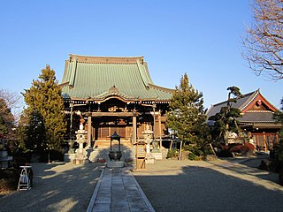
[[[169,101],[172,89],[154,85],[143,57],[85,57],[70,55],[62,79],[63,96],[103,100]],[[68,86],[67,86],[68,85]]]

